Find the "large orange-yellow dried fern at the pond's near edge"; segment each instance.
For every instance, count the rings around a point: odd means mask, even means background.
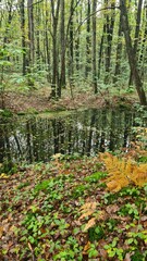
[[[100,159],[105,162],[108,172],[106,179],[110,191],[119,191],[128,184],[144,186],[147,183],[147,164],[137,164],[131,159],[119,159],[111,153],[101,153]]]

